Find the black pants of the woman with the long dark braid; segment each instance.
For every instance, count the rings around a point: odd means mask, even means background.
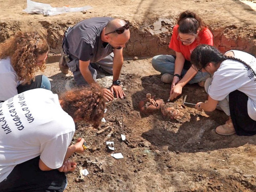
[[[248,96],[238,90],[229,93],[229,110],[237,135],[255,135],[256,121],[251,119],[247,111]]]

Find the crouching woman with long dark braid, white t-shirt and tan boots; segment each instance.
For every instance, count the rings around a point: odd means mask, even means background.
[[[213,111],[217,104],[229,116],[215,131],[220,135],[256,134],[256,58],[249,53],[230,50],[221,54],[213,46],[202,44],[191,53],[197,71],[212,74],[205,82],[208,102],[196,109]]]

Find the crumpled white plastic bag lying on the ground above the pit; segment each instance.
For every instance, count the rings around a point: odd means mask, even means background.
[[[31,0],[27,0],[27,8],[24,9],[24,12],[30,14],[43,14],[44,16],[50,15],[59,15],[63,13],[70,13],[70,12],[82,12],[88,9],[92,9],[91,6],[84,6],[84,7],[52,7],[50,4],[45,3],[37,3]]]

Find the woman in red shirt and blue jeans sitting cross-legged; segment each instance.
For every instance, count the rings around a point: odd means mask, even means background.
[[[187,84],[204,86],[210,76],[207,72],[197,72],[190,63],[191,52],[199,44],[213,45],[212,33],[194,12],[180,13],[178,24],[173,28],[169,48],[174,55],[157,55],[152,59],[153,67],[163,75],[161,81],[172,83],[169,100],[175,99]]]

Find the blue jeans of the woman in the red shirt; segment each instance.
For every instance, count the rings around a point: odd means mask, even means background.
[[[161,74],[169,73],[174,75],[174,68],[175,68],[175,58],[172,55],[156,55],[152,59],[152,66]],[[187,69],[182,69],[181,77],[183,77],[187,73]],[[188,84],[204,82],[210,74],[207,72],[197,72],[196,76],[191,79]]]

